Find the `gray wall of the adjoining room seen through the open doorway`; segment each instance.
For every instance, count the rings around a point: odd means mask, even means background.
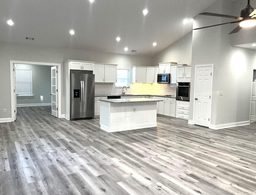
[[[16,64],[16,68],[32,70],[34,96],[17,96],[17,104],[51,103],[51,67],[31,64]]]

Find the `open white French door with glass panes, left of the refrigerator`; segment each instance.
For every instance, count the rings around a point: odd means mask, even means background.
[[[58,117],[58,85],[57,66],[51,67],[52,115]]]

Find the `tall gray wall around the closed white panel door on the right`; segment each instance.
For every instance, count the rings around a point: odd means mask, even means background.
[[[236,15],[239,11],[228,12],[230,6],[234,5],[233,1],[219,0],[206,11]],[[194,28],[224,22],[227,22],[225,18],[197,16],[194,18]],[[204,64],[214,64],[211,125],[249,120],[252,68],[256,68],[256,51],[231,45],[232,36],[229,32],[235,27],[236,25],[223,25],[193,31],[190,120],[193,119],[194,112],[195,66]],[[242,32],[235,36],[240,33]],[[218,92],[223,92],[223,96],[219,96]]]

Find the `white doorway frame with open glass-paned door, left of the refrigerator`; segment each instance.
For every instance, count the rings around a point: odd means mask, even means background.
[[[46,62],[24,62],[24,61],[10,61],[10,83],[11,83],[11,120],[15,121],[17,117],[17,94],[16,94],[16,64],[26,64],[30,66],[51,66],[51,107],[55,109],[52,115],[61,117],[61,64],[46,63]],[[58,75],[58,77],[57,77]],[[50,95],[49,94],[49,95]],[[59,94],[59,95],[57,95]],[[54,95],[54,96],[53,96]],[[44,98],[44,97],[40,97]]]

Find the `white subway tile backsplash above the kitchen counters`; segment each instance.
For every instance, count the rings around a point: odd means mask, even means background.
[[[176,84],[130,84],[126,94],[134,95],[172,95],[176,96]],[[122,88],[116,88],[114,83],[95,83],[95,95],[121,95]]]

